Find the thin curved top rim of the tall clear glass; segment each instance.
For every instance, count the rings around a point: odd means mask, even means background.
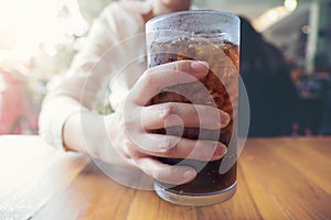
[[[159,19],[164,19],[168,16],[173,16],[173,15],[185,15],[185,14],[222,14],[225,15],[227,18],[232,18],[235,20],[241,20],[238,15],[236,15],[233,12],[229,11],[222,11],[222,10],[212,10],[212,9],[195,9],[195,10],[185,10],[185,11],[175,11],[175,12],[171,12],[171,13],[166,13],[166,14],[161,14],[158,16],[154,16],[150,20],[148,20],[146,22],[146,25],[150,25],[151,23],[156,22]]]

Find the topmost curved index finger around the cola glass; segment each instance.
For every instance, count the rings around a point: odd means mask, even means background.
[[[131,89],[132,100],[145,106],[163,88],[196,81],[209,73],[205,62],[180,61],[152,67],[143,73]]]

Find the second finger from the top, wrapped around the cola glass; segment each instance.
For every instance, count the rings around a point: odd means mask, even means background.
[[[202,105],[167,102],[142,108],[141,111],[141,123],[146,130],[177,125],[218,130],[228,122],[226,112]]]

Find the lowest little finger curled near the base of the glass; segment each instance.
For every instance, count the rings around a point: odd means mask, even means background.
[[[196,176],[196,170],[189,166],[170,166],[153,157],[141,157],[136,165],[147,175],[159,182],[180,185],[191,182]]]

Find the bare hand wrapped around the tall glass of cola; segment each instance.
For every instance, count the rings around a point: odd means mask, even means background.
[[[183,184],[192,180],[196,170],[188,166],[163,164],[157,157],[213,161],[224,156],[226,147],[220,142],[156,134],[151,130],[164,128],[164,124],[220,130],[229,121],[227,113],[209,106],[180,102],[146,107],[161,89],[196,81],[207,72],[206,63],[193,61],[150,68],[139,78],[116,112],[106,117],[111,144],[129,164],[160,182]],[[215,113],[216,121],[212,117]]]

